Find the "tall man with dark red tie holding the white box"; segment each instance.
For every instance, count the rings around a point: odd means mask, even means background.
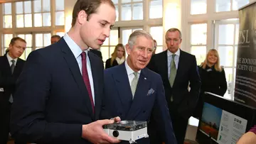
[[[72,28],[46,48],[31,52],[17,82],[11,134],[27,143],[119,143],[99,120],[103,62],[99,49],[116,18],[110,0],[78,0]],[[115,118],[119,121],[119,118]]]

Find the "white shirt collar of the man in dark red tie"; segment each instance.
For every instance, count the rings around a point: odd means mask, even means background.
[[[72,38],[70,38],[68,33],[65,33],[63,38],[64,38],[65,42],[68,44],[68,47],[70,48],[70,50],[73,52],[73,55],[75,56],[75,58],[78,58],[82,53],[81,48],[78,46],[78,44],[75,43],[74,40],[72,40]],[[85,50],[86,54],[87,54],[88,49]]]

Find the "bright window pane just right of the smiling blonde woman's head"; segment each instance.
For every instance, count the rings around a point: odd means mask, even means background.
[[[219,46],[218,53],[220,55],[220,65],[224,67],[233,66],[233,47],[232,46]]]

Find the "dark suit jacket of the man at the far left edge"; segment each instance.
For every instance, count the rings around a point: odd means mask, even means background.
[[[11,74],[11,66],[6,55],[0,57],[0,143],[6,143],[9,138],[11,111],[9,99],[11,94],[14,96],[16,80],[25,63],[24,60],[18,58],[14,67],[14,74]]]

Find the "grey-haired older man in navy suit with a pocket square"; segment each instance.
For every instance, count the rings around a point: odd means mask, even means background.
[[[126,50],[128,57],[122,65],[105,70],[102,116],[149,121],[150,116],[154,115],[165,143],[175,144],[161,77],[146,68],[154,51],[153,38],[145,31],[134,31],[129,36]],[[137,143],[148,144],[149,138],[142,138]]]

